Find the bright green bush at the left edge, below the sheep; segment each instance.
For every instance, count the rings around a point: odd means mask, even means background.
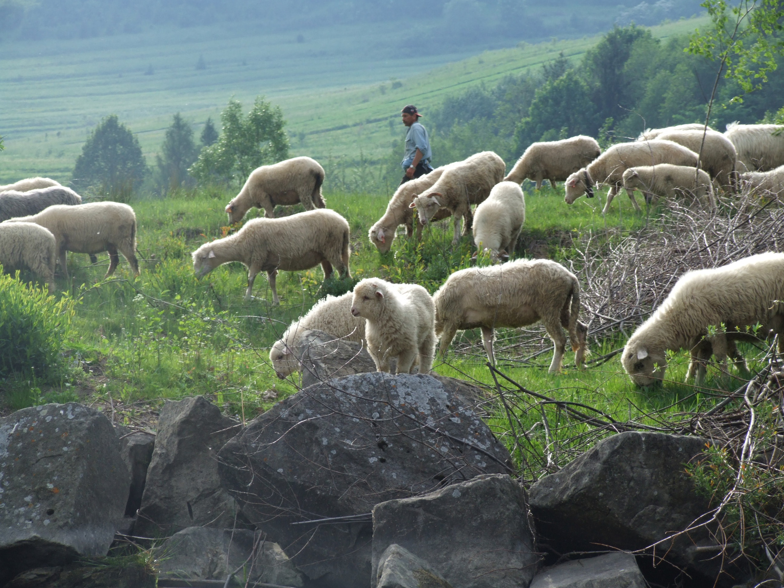
[[[58,300],[18,278],[0,273],[0,377],[50,379],[60,368],[74,299]]]

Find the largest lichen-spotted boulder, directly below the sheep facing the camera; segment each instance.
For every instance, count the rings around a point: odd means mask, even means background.
[[[456,390],[432,376],[383,372],[308,387],[221,449],[223,487],[314,586],[367,588],[376,503],[512,469]]]

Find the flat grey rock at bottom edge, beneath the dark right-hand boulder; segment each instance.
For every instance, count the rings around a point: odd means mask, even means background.
[[[535,575],[531,588],[646,588],[631,554],[604,554],[567,561]]]

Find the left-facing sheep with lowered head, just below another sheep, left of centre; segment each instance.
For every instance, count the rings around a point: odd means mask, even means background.
[[[252,298],[253,281],[267,272],[274,304],[280,304],[275,276],[278,270],[309,270],[321,263],[324,278],[336,267],[350,278],[348,222],[334,210],[299,212],[282,219],[252,219],[237,233],[201,245],[191,256],[199,278],[216,267],[238,261],[248,268],[245,299]]]

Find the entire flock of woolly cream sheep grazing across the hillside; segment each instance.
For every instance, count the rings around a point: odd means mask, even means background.
[[[336,338],[362,343],[379,371],[430,372],[439,342],[441,357],[459,330],[480,328],[488,359],[494,330],[541,322],[554,343],[550,372],[563,365],[567,329],[582,367],[587,328],[579,321],[580,286],[572,272],[550,260],[516,260],[514,252],[525,220],[520,184],[565,181],[564,200],[572,204],[594,188],[609,186],[604,212],[621,188],[633,205],[634,191],[646,201],[688,197],[715,207],[717,191],[751,191],[768,198],[784,192],[784,136],[775,125],[728,125],[724,134],[703,125],[678,125],[644,132],[637,141],[618,143],[604,153],[588,136],[534,143],[511,172],[492,151],[472,155],[402,184],[387,211],[369,230],[379,252],[387,252],[405,225],[411,238],[422,227],[453,217],[456,245],[473,231],[477,254],[490,256],[489,267],[454,272],[434,296],[413,284],[379,278],[358,282],[353,292],[327,296],[292,323],[270,350],[275,372],[285,378],[301,369],[299,339],[318,329]],[[321,195],[324,169],[299,157],[252,172],[226,206],[230,223],[238,223],[252,207],[264,218],[249,220],[235,234],[201,245],[193,252],[199,277],[232,261],[248,268],[250,298],[256,274],[266,271],[274,303],[278,270],[307,270],[321,264],[325,278],[338,270],[350,277],[349,224],[326,209]],[[306,212],[274,218],[276,205],[301,203]],[[471,205],[476,205],[472,211]],[[415,215],[416,212],[416,215]],[[32,178],[0,187],[0,263],[29,267],[54,289],[56,260],[66,272],[66,252],[107,251],[117,266],[122,252],[136,274],[136,218],[128,205],[114,202],[81,204],[81,198],[53,180]],[[460,223],[463,221],[461,230]],[[476,255],[475,255],[476,256]],[[685,274],[648,321],[637,328],[622,354],[633,381],[648,385],[663,379],[666,351],[691,352],[688,376],[702,379],[705,365],[732,358],[742,365],[735,344],[747,340],[744,328],[763,325],[763,336],[779,335],[784,352],[784,254],[769,252],[713,270]],[[709,328],[724,332],[711,333]]]

